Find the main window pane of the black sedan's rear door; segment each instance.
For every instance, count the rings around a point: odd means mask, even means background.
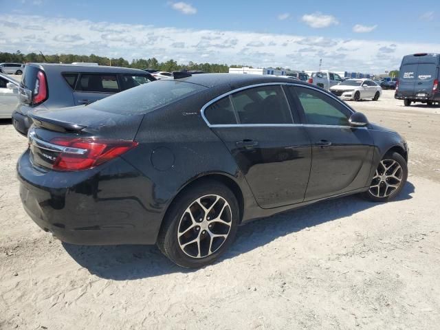
[[[292,124],[292,115],[279,85],[254,87],[231,96],[239,124]]]

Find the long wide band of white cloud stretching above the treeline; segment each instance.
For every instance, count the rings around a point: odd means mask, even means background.
[[[242,63],[254,67],[292,69],[318,69],[319,59],[322,58],[322,69],[372,73],[399,67],[402,56],[406,54],[418,50],[438,52],[440,49],[440,42],[402,43],[395,40],[156,28],[152,25],[17,14],[0,14],[0,31],[2,52],[93,53],[123,57],[128,61],[155,57],[159,61],[173,58],[197,63]]]

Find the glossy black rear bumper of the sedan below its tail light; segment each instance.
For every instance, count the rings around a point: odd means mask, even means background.
[[[17,164],[20,197],[32,220],[61,241],[82,245],[154,244],[162,209],[151,183],[124,159],[91,170],[43,172],[30,152]]]

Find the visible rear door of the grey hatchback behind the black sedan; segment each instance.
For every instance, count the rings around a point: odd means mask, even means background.
[[[117,74],[83,73],[76,81],[75,105],[89,104],[120,91]]]

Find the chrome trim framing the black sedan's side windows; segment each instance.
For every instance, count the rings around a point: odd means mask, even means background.
[[[226,96],[230,96],[231,94],[234,94],[238,91],[244,91],[245,89],[250,89],[250,88],[254,88],[254,87],[263,87],[263,86],[273,86],[273,85],[280,85],[280,86],[298,86],[298,87],[305,87],[305,88],[309,88],[309,89],[314,89],[316,91],[320,91],[322,93],[322,90],[320,90],[319,88],[313,87],[313,86],[309,86],[309,85],[303,85],[303,84],[296,84],[296,83],[261,83],[261,84],[254,84],[254,85],[248,85],[248,86],[244,86],[244,87],[240,87],[237,89],[234,89],[232,91],[228,91],[224,94],[221,94],[220,96],[217,96],[217,98],[213,98],[212,100],[210,100],[209,102],[207,102],[205,105],[203,105],[203,107],[201,107],[200,110],[200,114],[201,114],[201,118],[203,118],[203,120],[206,122],[206,124],[208,125],[208,127],[261,127],[261,126],[307,126],[307,127],[314,127],[314,126],[318,126],[318,127],[351,127],[353,128],[353,126],[349,126],[349,125],[324,125],[324,124],[210,124],[210,122],[208,122],[208,119],[205,116],[205,110],[207,107],[209,107],[212,103],[217,102],[218,100],[221,100],[222,98],[225,98]],[[283,88],[282,88],[283,89]],[[284,91],[284,89],[283,89]],[[324,94],[324,93],[323,93]],[[351,114],[355,113],[355,111],[353,111],[353,109],[351,109],[347,104],[345,104],[344,102],[342,102],[339,98],[337,98],[336,96],[332,95],[332,94],[325,94],[327,96],[329,96],[330,98],[333,98],[334,100],[336,100],[337,102],[339,102],[343,107],[345,107],[347,110],[349,110],[349,112],[351,112]],[[285,95],[285,98],[287,100],[287,96]],[[230,102],[232,103],[232,100],[230,100]],[[289,100],[287,100],[287,104],[289,104]],[[234,107],[234,104],[232,103],[232,107]],[[290,104],[289,104],[290,107]],[[234,111],[236,112],[236,111]],[[292,114],[292,111],[291,111]],[[293,114],[292,114],[292,120],[293,120]],[[359,128],[359,127],[358,127]]]

